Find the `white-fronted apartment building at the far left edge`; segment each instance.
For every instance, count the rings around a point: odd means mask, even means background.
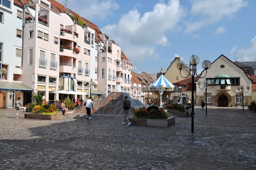
[[[0,0],[0,68],[6,68],[7,74],[0,79],[0,108],[12,108],[22,92],[32,89],[21,82],[22,74],[22,19],[21,2]]]

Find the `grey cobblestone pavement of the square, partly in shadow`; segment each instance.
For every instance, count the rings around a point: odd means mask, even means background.
[[[168,128],[122,126],[121,115],[24,119],[0,109],[1,170],[255,170],[256,112],[195,108]]]

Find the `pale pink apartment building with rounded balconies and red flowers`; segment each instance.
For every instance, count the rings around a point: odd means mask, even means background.
[[[52,93],[60,90],[88,93],[93,33],[71,13],[53,9],[50,1],[32,2],[24,6],[22,82],[46,96],[46,101],[66,97]]]

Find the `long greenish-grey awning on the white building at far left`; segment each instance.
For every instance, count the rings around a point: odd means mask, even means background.
[[[0,91],[9,91],[9,92],[17,92],[17,91],[33,91],[32,88],[26,86],[23,83],[18,82],[0,82]]]

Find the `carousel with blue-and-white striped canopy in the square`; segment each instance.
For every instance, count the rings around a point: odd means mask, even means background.
[[[160,106],[159,108],[162,108],[162,101],[166,101],[166,97],[168,94],[171,94],[173,92],[183,92],[182,87],[176,87],[174,86],[169,80],[167,80],[166,77],[162,74],[162,71],[164,69],[162,68],[160,73],[161,76],[154,81],[152,84],[146,87],[142,87],[142,92],[152,92],[154,94],[159,94],[160,96]]]

